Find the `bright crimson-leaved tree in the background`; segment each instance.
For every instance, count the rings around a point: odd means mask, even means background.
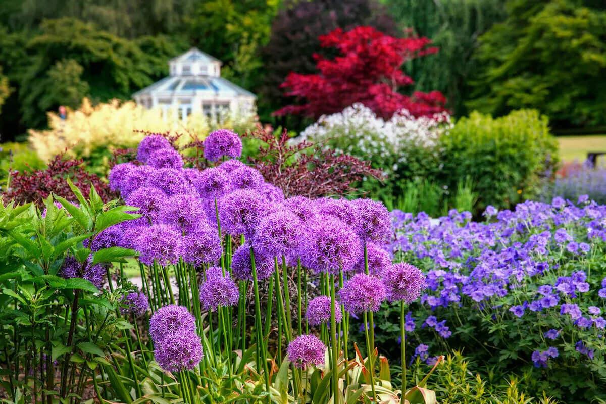
[[[384,119],[402,108],[415,116],[445,110],[446,99],[439,91],[416,91],[412,96],[397,92],[399,87],[413,84],[401,70],[402,64],[438,51],[429,46],[430,39],[394,38],[373,27],[356,27],[347,32],[337,28],[319,40],[323,48],[334,47],[341,56],[326,59],[314,55],[319,71],[315,75],[291,72],[281,87],[287,89],[287,96],[294,96],[304,104],[287,105],[274,114],[318,118],[355,102],[362,102]]]

